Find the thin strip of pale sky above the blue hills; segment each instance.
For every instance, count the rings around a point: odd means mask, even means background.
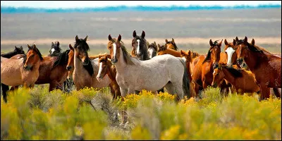
[[[1,6],[30,8],[87,8],[105,6],[258,6],[280,4],[281,1],[1,1]]]

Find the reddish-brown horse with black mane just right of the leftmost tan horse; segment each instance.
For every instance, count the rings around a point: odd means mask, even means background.
[[[68,76],[66,66],[69,52],[70,50],[66,50],[59,56],[44,56],[43,61],[40,62],[39,77],[35,84],[49,84],[49,92],[56,86],[61,88]]]

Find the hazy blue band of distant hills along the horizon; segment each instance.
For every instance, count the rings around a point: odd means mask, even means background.
[[[1,6],[1,13],[70,13],[99,11],[195,11],[221,9],[281,8],[281,5],[259,6],[106,6],[102,8],[28,8]]]

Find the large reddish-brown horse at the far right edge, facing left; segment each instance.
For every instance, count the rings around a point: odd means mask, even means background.
[[[255,40],[254,40],[255,41]],[[240,39],[235,44],[237,61],[244,61],[255,74],[255,79],[260,87],[261,99],[269,98],[270,87],[281,88],[281,57],[266,53],[260,47]],[[281,97],[280,94],[276,97]]]

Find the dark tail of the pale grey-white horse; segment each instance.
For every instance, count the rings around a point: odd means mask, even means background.
[[[190,94],[190,80],[189,80],[189,76],[187,73],[187,68],[186,68],[186,63],[183,59],[179,59],[180,62],[183,64],[184,66],[184,73],[183,73],[183,78],[182,78],[182,88],[183,88],[183,94],[187,96],[187,98],[189,99],[191,97]]]

